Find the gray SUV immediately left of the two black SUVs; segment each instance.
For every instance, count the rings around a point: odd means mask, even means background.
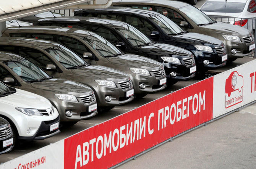
[[[66,27],[12,27],[2,36],[31,37],[58,42],[83,57],[87,63],[107,66],[128,74],[136,97],[166,87],[164,67],[143,56],[122,53],[115,45],[94,32]]]

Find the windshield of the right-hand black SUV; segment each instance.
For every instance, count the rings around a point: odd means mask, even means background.
[[[162,14],[151,16],[149,19],[156,23],[167,34],[180,34],[185,32],[180,26]]]

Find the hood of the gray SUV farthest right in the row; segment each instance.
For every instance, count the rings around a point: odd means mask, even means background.
[[[204,31],[208,31],[209,35],[216,36],[219,35],[237,35],[238,37],[244,37],[250,34],[248,29],[240,26],[235,26],[232,24],[217,22],[211,25],[200,26],[204,28]],[[218,34],[216,34],[216,32]]]

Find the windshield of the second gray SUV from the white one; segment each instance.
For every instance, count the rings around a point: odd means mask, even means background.
[[[63,45],[56,44],[56,46],[45,50],[67,69],[80,68],[88,65],[82,58]]]

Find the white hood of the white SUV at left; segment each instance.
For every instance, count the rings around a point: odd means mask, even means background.
[[[1,106],[14,106],[19,108],[49,109],[52,107],[49,100],[24,90],[16,89],[16,93],[0,97]]]

